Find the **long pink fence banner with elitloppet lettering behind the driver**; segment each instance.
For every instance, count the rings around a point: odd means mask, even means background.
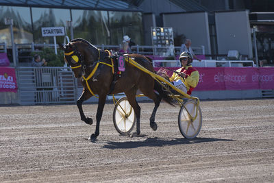
[[[158,71],[160,68],[155,68]],[[177,70],[177,67],[168,68]],[[197,67],[200,79],[195,90],[274,89],[274,67]],[[169,71],[169,76],[172,75]]]

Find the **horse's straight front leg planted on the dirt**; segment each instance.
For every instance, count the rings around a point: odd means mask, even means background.
[[[99,95],[99,103],[96,113],[96,130],[95,133],[90,136],[91,141],[95,141],[97,136],[99,136],[100,121],[103,114],[103,107],[105,106],[105,99],[107,95]]]

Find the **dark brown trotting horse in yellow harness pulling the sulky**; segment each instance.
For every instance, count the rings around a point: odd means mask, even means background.
[[[136,114],[136,132],[134,135],[140,135],[140,106],[136,101],[136,92],[139,89],[142,94],[149,97],[155,103],[151,117],[149,118],[152,130],[157,130],[155,123],[155,113],[162,99],[173,105],[171,97],[163,90],[162,86],[156,82],[151,75],[144,73],[140,69],[125,62],[125,71],[116,80],[114,79],[114,62],[116,58],[110,57],[110,51],[103,51],[92,45],[87,40],[76,38],[66,45],[58,43],[60,49],[64,51],[64,60],[71,66],[75,77],[82,77],[84,86],[82,95],[77,99],[77,108],[79,109],[82,121],[92,125],[92,118],[86,117],[82,103],[92,96],[98,95],[99,102],[96,114],[95,133],[90,135],[90,140],[95,141],[99,136],[99,125],[105,105],[105,99],[108,94],[125,93],[129,104]],[[136,53],[130,53],[127,57],[132,58],[141,66],[154,72],[152,60]],[[111,87],[112,86],[112,87]]]

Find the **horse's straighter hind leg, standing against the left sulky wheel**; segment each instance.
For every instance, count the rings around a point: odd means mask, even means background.
[[[136,101],[136,90],[132,89],[130,92],[126,92],[125,95],[127,96],[127,100],[129,101],[129,104],[134,109],[134,112],[136,114],[136,133],[137,135],[140,134],[140,106],[138,105]]]

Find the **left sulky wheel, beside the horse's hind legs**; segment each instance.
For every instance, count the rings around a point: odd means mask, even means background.
[[[117,132],[122,135],[132,132],[136,123],[136,116],[127,97],[123,97],[117,101],[113,111],[113,123]]]

